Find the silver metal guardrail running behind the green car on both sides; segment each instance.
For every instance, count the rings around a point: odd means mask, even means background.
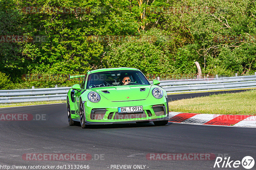
[[[256,75],[186,80],[163,80],[160,82],[160,85],[168,92],[168,94],[177,92],[244,89],[256,88]],[[150,81],[150,83],[152,84],[152,81]],[[0,90],[0,103],[66,100],[66,95],[70,88],[71,87]]]

